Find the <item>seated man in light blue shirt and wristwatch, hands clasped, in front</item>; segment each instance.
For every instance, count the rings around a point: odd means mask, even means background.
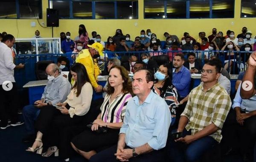
[[[161,149],[166,146],[171,114],[164,99],[151,90],[153,81],[154,75],[148,70],[134,73],[136,96],[127,103],[118,144],[92,156],[90,162],[163,161]]]

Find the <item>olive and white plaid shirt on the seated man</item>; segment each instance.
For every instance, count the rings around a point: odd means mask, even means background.
[[[192,135],[213,123],[219,129],[209,136],[221,142],[221,128],[230,110],[231,99],[218,83],[207,92],[204,92],[203,84],[190,92],[189,101],[181,116],[189,119],[186,129],[191,129]]]

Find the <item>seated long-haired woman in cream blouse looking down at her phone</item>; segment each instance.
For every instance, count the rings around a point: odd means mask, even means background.
[[[35,142],[26,151],[37,151],[38,154],[41,154],[42,137],[44,136],[44,145],[49,148],[42,156],[48,157],[52,154],[58,156],[57,146],[59,145],[61,128],[82,124],[84,115],[90,109],[93,88],[83,64],[75,63],[70,68],[70,73],[75,84],[71,88],[67,100],[64,103],[41,109],[35,123],[35,128],[38,130]]]

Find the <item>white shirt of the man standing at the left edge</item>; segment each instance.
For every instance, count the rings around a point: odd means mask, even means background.
[[[0,85],[4,81],[15,82],[12,49],[6,44],[0,43]]]

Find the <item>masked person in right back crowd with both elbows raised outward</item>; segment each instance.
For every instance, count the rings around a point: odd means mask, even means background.
[[[231,73],[231,71],[232,71],[232,73],[237,73],[238,68],[235,67],[234,68],[235,71],[233,71],[232,67],[233,67],[233,63],[236,62],[236,59],[237,59],[236,56],[238,55],[238,53],[235,53],[235,52],[236,51],[239,52],[240,51],[239,48],[232,41],[230,41],[230,42],[227,42],[227,44],[224,45],[221,50],[228,51],[227,53],[224,53],[224,55],[225,55],[224,69],[225,70],[229,69],[228,71],[230,71],[230,73]]]

